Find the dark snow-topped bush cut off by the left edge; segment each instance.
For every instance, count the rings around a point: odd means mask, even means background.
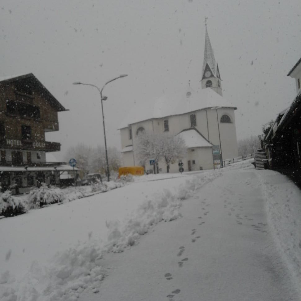
[[[0,215],[9,217],[26,212],[25,206],[9,190],[0,194]]]

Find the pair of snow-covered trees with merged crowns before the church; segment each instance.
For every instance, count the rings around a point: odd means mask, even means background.
[[[160,159],[164,159],[167,172],[169,172],[170,163],[184,157],[186,145],[179,136],[143,131],[138,135],[135,150],[141,165],[144,165],[148,160],[154,160],[156,166]]]

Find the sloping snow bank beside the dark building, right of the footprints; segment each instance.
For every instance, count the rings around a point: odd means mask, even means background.
[[[261,170],[268,223],[301,295],[301,191],[285,175]]]

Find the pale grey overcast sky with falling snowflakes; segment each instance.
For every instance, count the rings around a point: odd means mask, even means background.
[[[286,75],[301,57],[300,0],[2,0],[0,77],[33,73],[70,110],[46,135],[63,158],[77,143],[104,145],[99,92],[72,83],[128,74],[103,91],[107,143],[120,149],[137,104],[201,86],[205,16],[237,139],[259,135],[296,94]]]

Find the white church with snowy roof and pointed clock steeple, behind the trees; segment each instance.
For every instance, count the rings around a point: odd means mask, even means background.
[[[139,132],[167,132],[180,135],[187,146],[182,158],[184,171],[214,169],[224,160],[238,157],[233,106],[223,97],[219,66],[210,43],[207,25],[201,89],[190,86],[183,97],[173,99],[162,96],[139,110],[139,115],[128,116],[120,126],[123,166],[139,166],[137,139]],[[140,114],[141,112],[141,114]],[[153,171],[152,158],[144,166]],[[166,172],[166,163],[158,163],[157,172]],[[170,172],[179,172],[178,162],[170,164]]]

